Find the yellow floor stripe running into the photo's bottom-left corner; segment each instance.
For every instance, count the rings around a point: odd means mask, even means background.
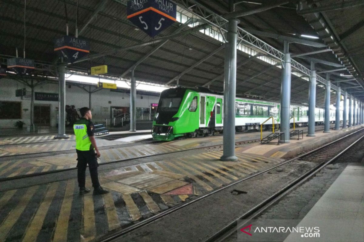
[[[16,207],[11,210],[3,223],[1,223],[0,241],[5,241],[5,238],[7,237],[9,231],[19,219],[21,213],[23,213],[25,207],[28,205],[29,200],[31,200],[38,187],[39,186],[32,186],[31,188],[27,189],[25,194],[20,198],[20,201],[18,202]]]

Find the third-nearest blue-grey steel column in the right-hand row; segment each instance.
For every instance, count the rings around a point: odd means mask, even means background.
[[[315,136],[315,107],[316,107],[316,71],[311,62],[311,80],[308,91],[308,134],[309,137]]]

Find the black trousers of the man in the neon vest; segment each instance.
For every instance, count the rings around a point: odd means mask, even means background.
[[[79,187],[85,187],[86,182],[86,167],[88,165],[88,169],[91,175],[92,186],[94,188],[98,188],[100,186],[99,182],[99,174],[97,172],[97,167],[99,164],[97,163],[97,158],[95,155],[95,151],[79,151],[77,152],[77,180]]]

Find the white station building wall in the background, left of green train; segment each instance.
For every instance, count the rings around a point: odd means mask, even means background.
[[[22,100],[21,97],[15,97],[15,90],[25,88],[27,94],[31,92],[30,87],[25,86],[13,79],[0,79],[0,101],[18,101],[21,102],[21,119],[1,119],[0,128],[14,128],[15,122],[22,120],[26,126],[30,124],[31,101]],[[35,87],[35,92],[58,93],[58,84],[48,83]],[[141,99],[143,97],[143,99]],[[124,98],[124,99],[123,99]],[[137,94],[137,108],[150,108],[151,103],[158,103],[159,97],[150,95]],[[111,103],[109,103],[111,101]],[[50,105],[51,109],[51,126],[55,127],[58,123],[58,102],[54,101],[34,101],[35,104]],[[66,105],[75,105],[76,109],[88,107],[88,93],[76,86],[69,86],[66,83]],[[112,92],[109,89],[103,89],[91,94],[92,120],[94,122],[104,121],[110,118],[111,107],[130,107],[130,96],[127,93]]]

